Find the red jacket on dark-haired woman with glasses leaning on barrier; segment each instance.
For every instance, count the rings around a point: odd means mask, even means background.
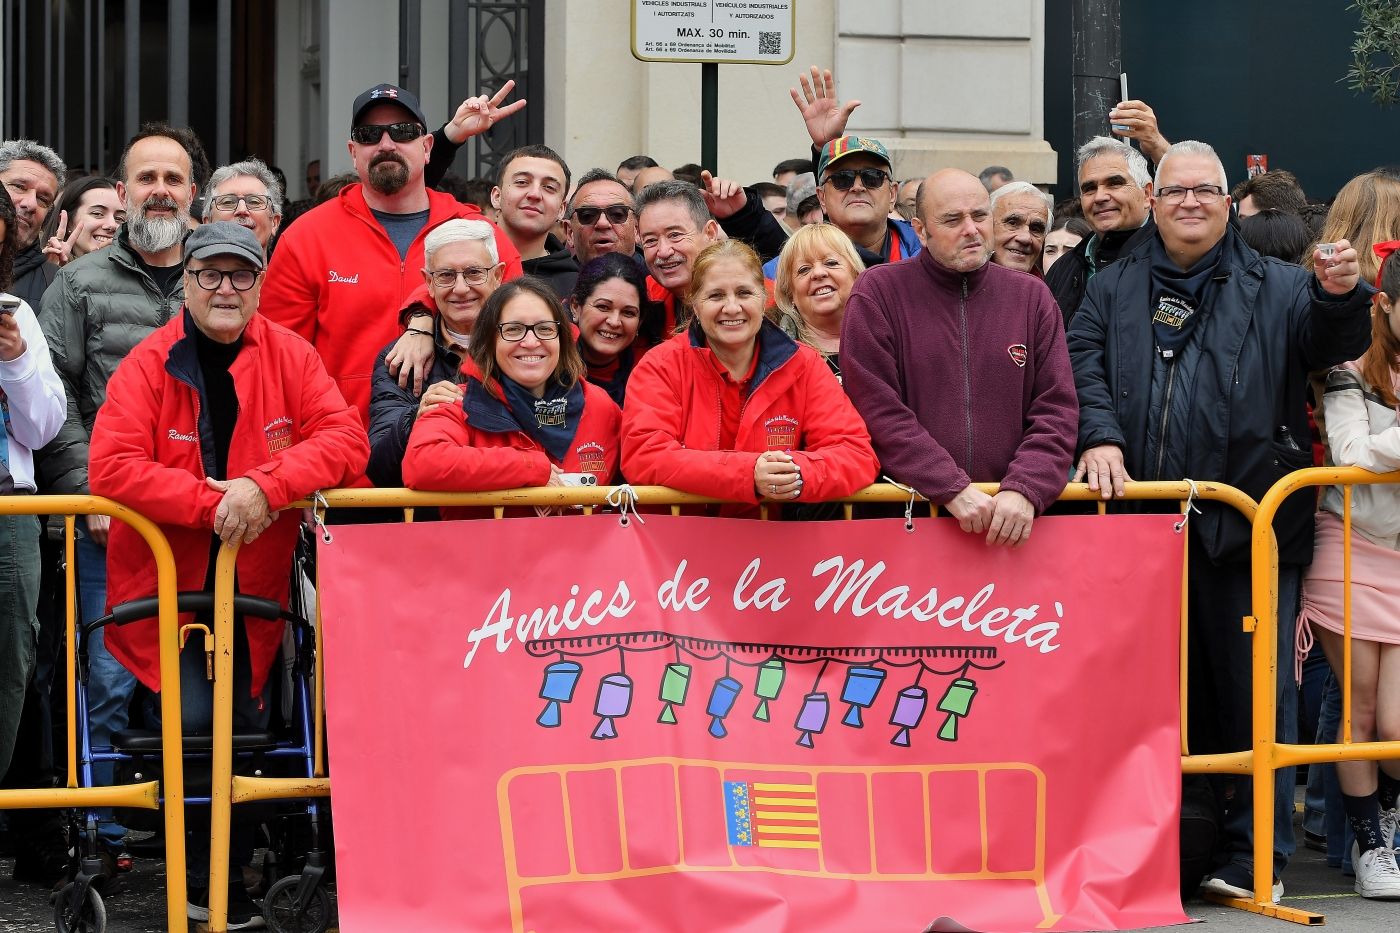
[[[465,396],[438,405],[413,424],[403,455],[403,482],[431,492],[491,492],[549,483],[550,465],[566,474],[592,474],[599,486],[617,474],[622,410],[608,392],[584,381],[584,413],[568,454],[554,461],[510,419],[500,391],[487,389],[470,361],[463,363]],[[475,384],[475,391],[473,389]],[[475,419],[475,420],[473,420]],[[444,509],[444,518],[489,514],[480,509]]]

